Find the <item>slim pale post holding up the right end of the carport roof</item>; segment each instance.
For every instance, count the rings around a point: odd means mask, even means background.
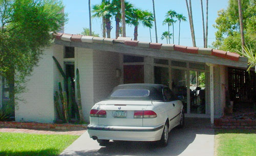
[[[214,124],[214,64],[210,65],[210,123]]]

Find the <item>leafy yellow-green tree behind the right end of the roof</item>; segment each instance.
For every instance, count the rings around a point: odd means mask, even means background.
[[[244,37],[248,47],[256,51],[256,5],[254,0],[241,1],[243,10]],[[214,28],[216,41],[213,45],[222,50],[242,50],[239,8],[237,0],[229,0],[227,9],[218,11]]]

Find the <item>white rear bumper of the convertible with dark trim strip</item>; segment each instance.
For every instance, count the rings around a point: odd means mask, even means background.
[[[87,126],[90,138],[106,140],[126,140],[126,141],[158,141],[161,139],[163,124],[152,127],[138,126]]]

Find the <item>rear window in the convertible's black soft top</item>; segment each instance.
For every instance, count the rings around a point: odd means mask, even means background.
[[[118,89],[114,91],[111,97],[146,97],[150,95],[147,89]]]

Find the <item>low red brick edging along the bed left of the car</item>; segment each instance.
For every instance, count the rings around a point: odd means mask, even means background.
[[[57,123],[39,123],[39,122],[13,122],[0,121],[2,128],[28,128],[28,129],[53,129],[53,130],[86,130],[87,124],[57,124]]]

